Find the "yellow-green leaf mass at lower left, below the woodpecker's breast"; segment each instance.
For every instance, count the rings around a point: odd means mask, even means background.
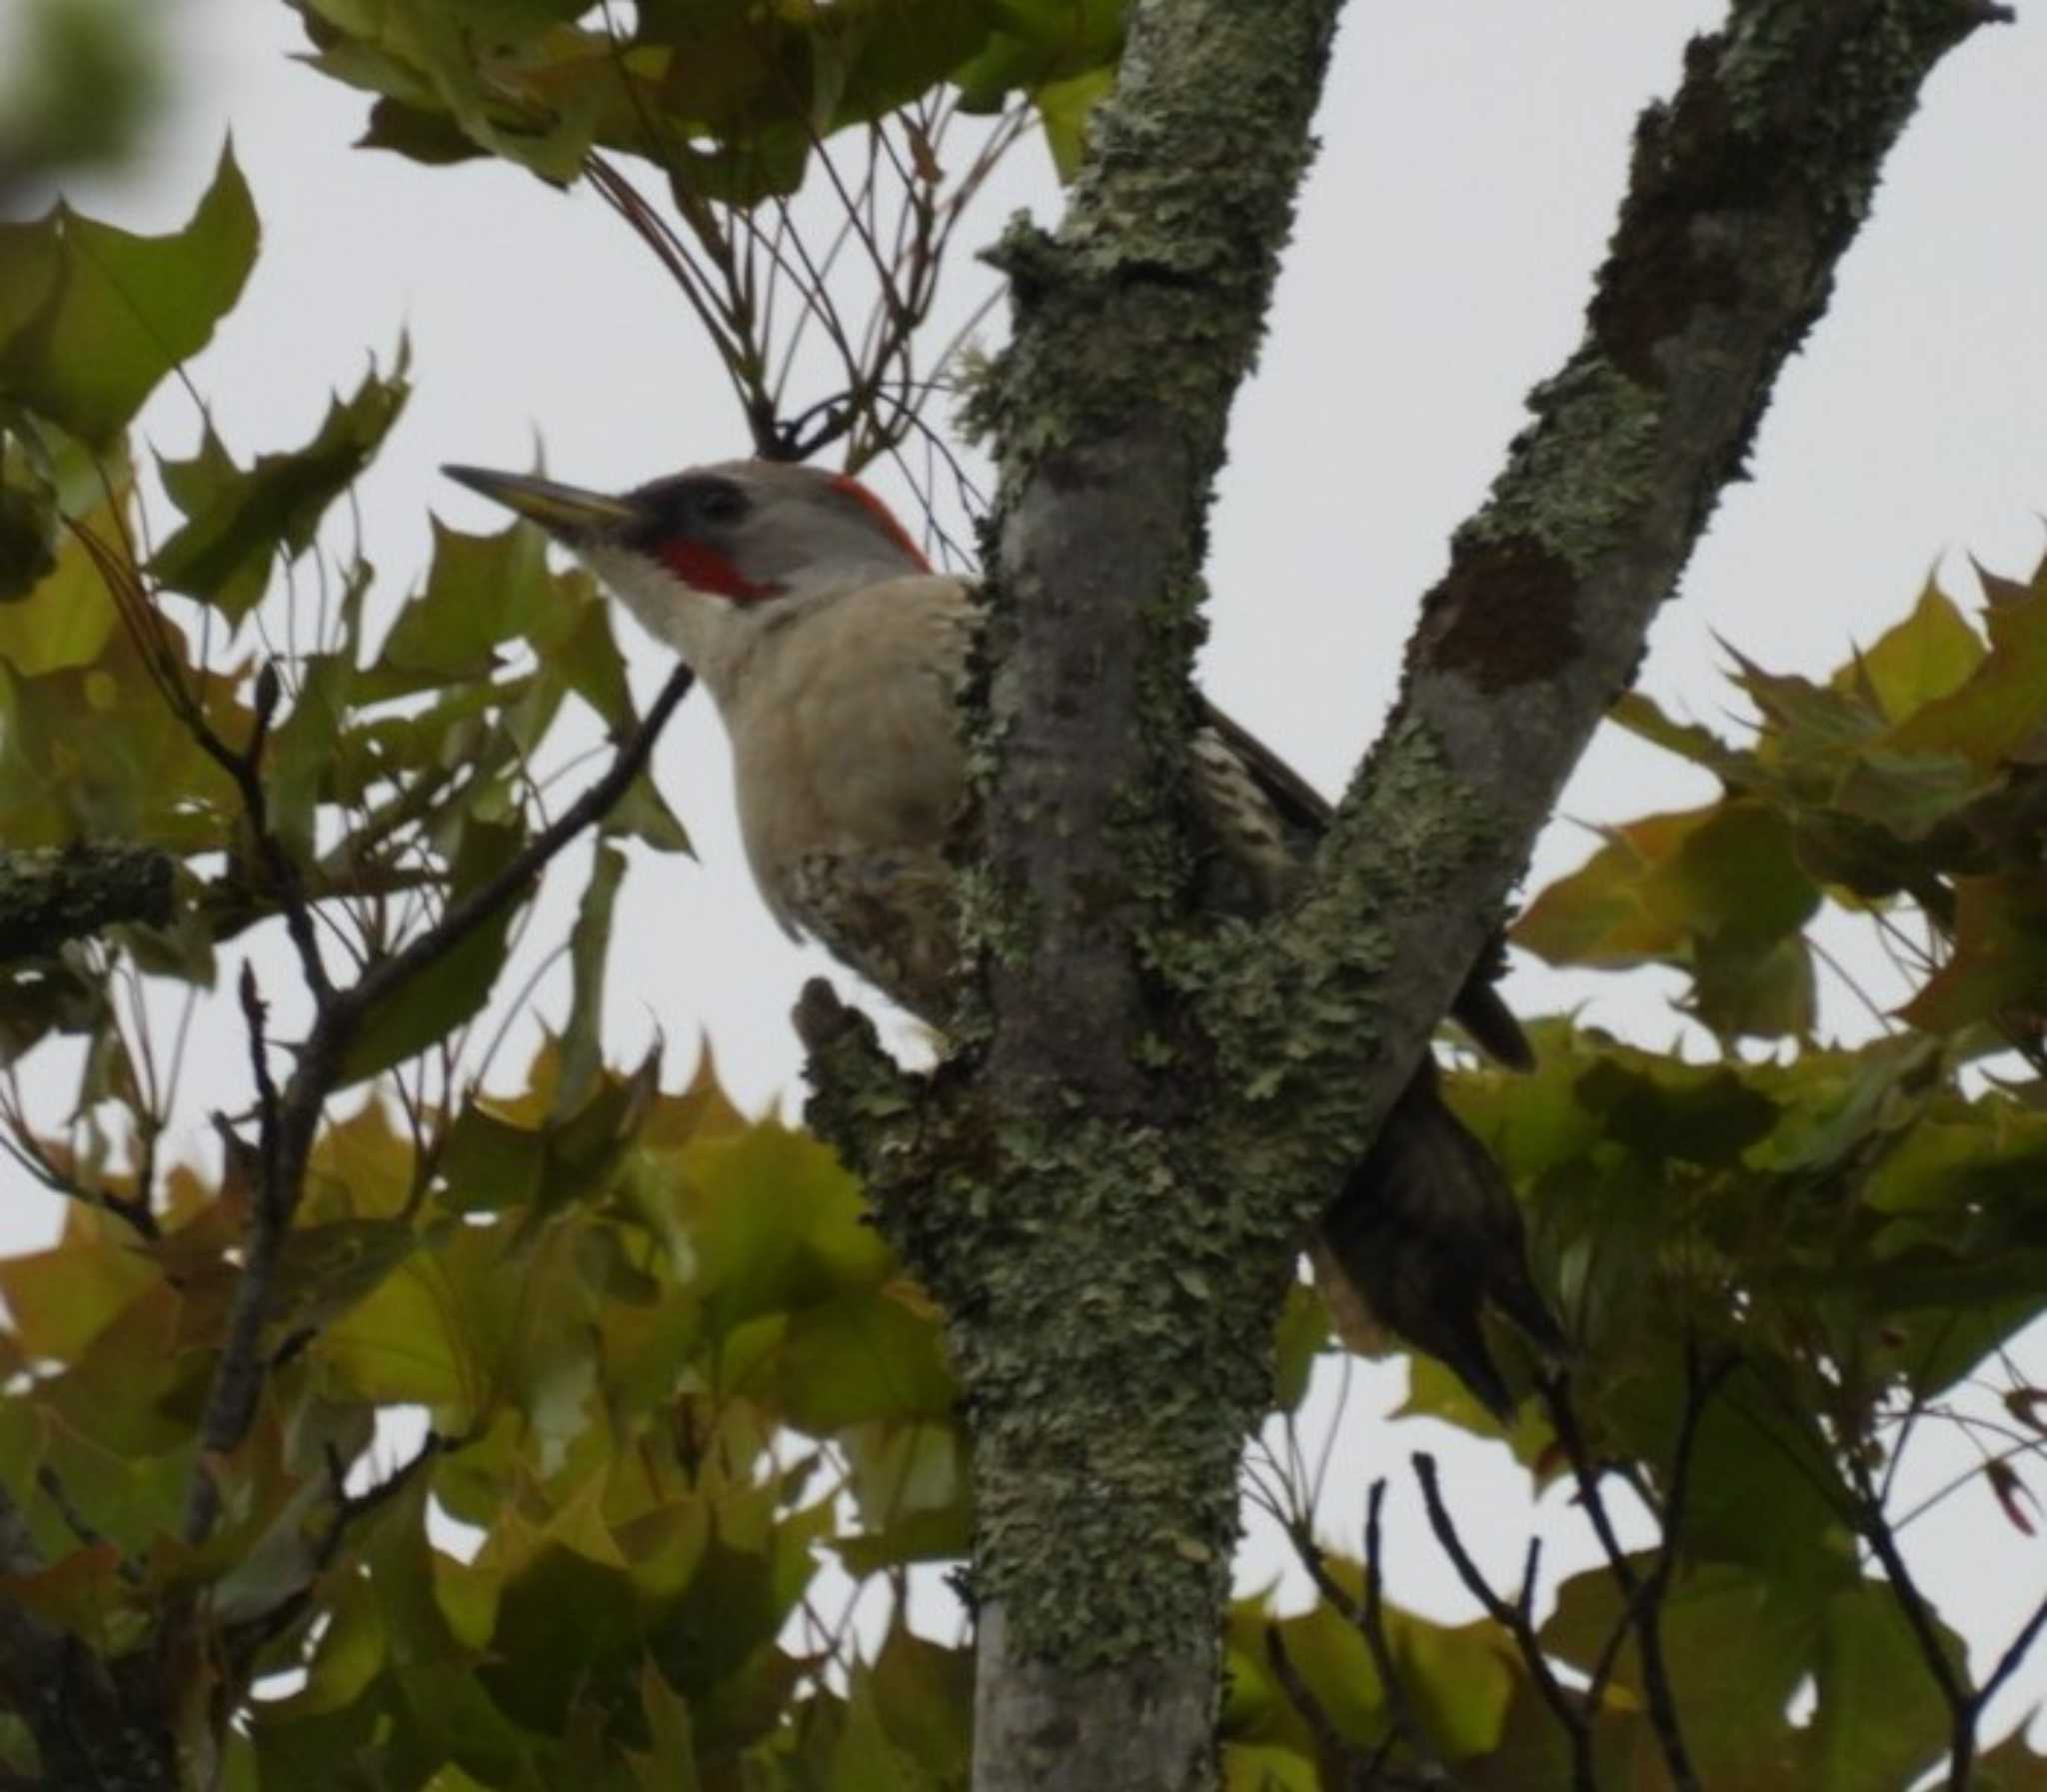
[[[76,1206],[8,1262],[0,1477],[49,1561],[8,1595],[108,1659],[197,1597],[229,1671],[303,1667],[229,1786],[960,1784],[962,1651],[788,1642],[819,1544],[862,1577],[964,1546],[935,1315],[823,1147],[708,1075],[567,1071],[549,1042],[432,1163],[379,1100],[323,1133],[203,1546],[180,1507],[248,1163],[176,1169],[145,1243]],[[434,1430],[393,1468],[397,1407]]]

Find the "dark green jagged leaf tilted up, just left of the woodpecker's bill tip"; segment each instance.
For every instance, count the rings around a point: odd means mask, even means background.
[[[330,401],[311,442],[289,455],[260,455],[248,473],[235,467],[211,424],[190,461],[160,463],[164,487],[190,520],[158,549],[149,571],[170,590],[239,621],[262,596],[272,559],[278,553],[295,559],[311,547],[328,506],[354,483],[397,422],[411,391],[407,356],[401,342],[389,379],[373,362],[352,397]]]

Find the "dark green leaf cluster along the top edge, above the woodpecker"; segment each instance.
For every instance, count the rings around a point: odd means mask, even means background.
[[[1107,92],[1124,0],[289,0],[313,66],[377,94],[364,143],[502,156],[569,182],[592,150],[651,160],[690,199],[802,184],[817,145],[940,86],[1038,106],[1062,168]]]

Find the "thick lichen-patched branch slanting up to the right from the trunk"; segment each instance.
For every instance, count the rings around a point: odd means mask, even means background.
[[[1478,963],[1742,475],[1920,86],[1996,16],[1967,0],[1734,0],[1691,43],[1674,100],[1642,115],[1586,334],[1453,537],[1306,893],[1232,973],[1189,979],[1245,1126],[1298,1141],[1302,1194],[1357,1161]]]

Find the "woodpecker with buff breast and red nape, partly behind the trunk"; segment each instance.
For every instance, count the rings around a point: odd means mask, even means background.
[[[747,860],[792,938],[819,938],[911,1014],[944,1026],[958,969],[946,834],[966,786],[958,690],[978,618],[860,481],[723,461],[612,498],[520,473],[446,467],[569,547],[710,690],[733,745]],[[1234,905],[1283,901],[1329,805],[1204,702],[1191,786],[1206,856]],[[1212,883],[1212,881],[1210,881]],[[1531,1063],[1474,971],[1453,1018],[1492,1057]],[[1441,1358],[1500,1419],[1515,1399],[1480,1313],[1545,1354],[1566,1339],[1527,1270],[1521,1208],[1443,1106],[1425,1057],[1310,1245],[1345,1341],[1382,1327]]]

